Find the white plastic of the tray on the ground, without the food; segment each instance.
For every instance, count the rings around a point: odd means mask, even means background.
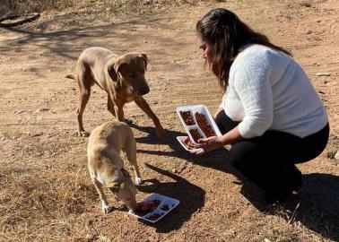
[[[158,205],[158,207],[154,211],[149,212],[149,213],[147,213],[143,216],[139,216],[139,215],[135,214],[132,210],[130,210],[128,213],[139,218],[139,219],[141,219],[141,220],[146,220],[146,221],[149,221],[149,222],[152,222],[152,223],[156,223],[157,221],[161,220],[166,214],[168,214],[173,209],[175,209],[178,206],[178,204],[180,203],[180,201],[178,201],[177,199],[174,199],[174,198],[171,198],[169,196],[162,195],[162,194],[150,194],[148,197],[143,199],[143,202],[148,202],[148,201],[152,201],[152,200],[160,200],[161,201],[161,203]],[[161,210],[161,207],[165,204],[167,204],[169,206],[168,211]],[[159,218],[157,220],[147,219],[150,216],[152,216],[154,213],[158,213],[158,214],[161,214],[161,215],[159,216]]]

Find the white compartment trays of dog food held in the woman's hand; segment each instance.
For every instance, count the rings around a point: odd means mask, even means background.
[[[222,136],[212,115],[204,105],[178,107],[177,114],[193,144],[197,144],[198,140],[201,138]],[[186,145],[187,142],[183,143],[182,138],[179,139],[179,137],[177,137],[177,139],[185,149],[189,147],[189,145]]]

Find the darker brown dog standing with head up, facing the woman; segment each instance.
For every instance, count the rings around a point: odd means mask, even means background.
[[[91,95],[91,86],[96,83],[108,93],[109,112],[119,121],[124,120],[123,107],[132,100],[152,118],[157,135],[162,138],[164,130],[161,123],[152,112],[143,95],[150,91],[144,78],[147,70],[147,56],[139,53],[127,53],[117,56],[106,48],[86,48],[79,56],[76,64],[76,76],[67,75],[67,78],[76,79],[79,84],[79,102],[77,119],[78,133],[88,136],[83,128],[83,110]]]

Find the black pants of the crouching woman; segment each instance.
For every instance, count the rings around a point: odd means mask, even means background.
[[[223,111],[215,122],[222,134],[239,125]],[[266,192],[289,194],[301,186],[301,172],[295,164],[312,160],[324,151],[328,135],[328,124],[316,134],[304,138],[268,130],[262,136],[233,143],[230,163]]]

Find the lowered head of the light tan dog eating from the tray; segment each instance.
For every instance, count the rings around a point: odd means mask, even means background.
[[[117,200],[126,204],[126,206],[135,210],[136,208],[136,188],[133,183],[129,173],[126,169],[121,169],[121,178],[120,182],[113,182],[105,187],[109,188],[109,190],[114,194]]]

